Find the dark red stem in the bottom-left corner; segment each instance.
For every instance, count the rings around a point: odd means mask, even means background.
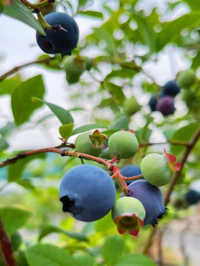
[[[17,266],[17,263],[13,256],[12,244],[4,228],[1,216],[0,216],[0,244],[5,265]]]

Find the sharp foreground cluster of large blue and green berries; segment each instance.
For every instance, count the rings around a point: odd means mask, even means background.
[[[102,136],[97,131],[80,134],[75,141],[77,152],[102,156],[102,146],[96,146],[99,143],[97,138]],[[108,139],[107,150],[114,158],[133,157],[138,151],[134,131],[121,130],[113,133]],[[166,213],[163,195],[158,186],[167,184],[172,178],[171,169],[178,171],[180,166],[176,158],[165,150],[163,155],[151,153],[145,156],[140,167],[127,165],[119,172],[115,166],[112,171],[117,179],[140,175],[138,180],[127,181],[126,195],[121,195],[116,202],[116,188],[106,171],[90,164],[75,166],[64,175],[60,184],[63,211],[69,212],[77,220],[91,222],[101,219],[112,210],[112,219],[118,232],[136,236],[140,226],[154,226]]]

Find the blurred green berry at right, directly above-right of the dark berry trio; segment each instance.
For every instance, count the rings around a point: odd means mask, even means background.
[[[194,70],[187,69],[179,73],[177,83],[181,88],[189,88],[196,79]]]

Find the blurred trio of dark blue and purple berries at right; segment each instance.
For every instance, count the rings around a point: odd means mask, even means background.
[[[168,81],[160,94],[153,94],[149,100],[152,111],[159,111],[164,116],[173,114],[175,111],[174,97],[180,92],[180,87],[174,80]]]

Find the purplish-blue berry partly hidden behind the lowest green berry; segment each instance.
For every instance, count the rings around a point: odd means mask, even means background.
[[[152,186],[146,180],[136,180],[129,186],[129,192],[126,196],[134,197],[142,202],[146,215],[144,225],[157,225],[157,219],[163,218],[166,208],[163,205],[163,195],[159,187]],[[120,195],[122,197],[123,194]]]

